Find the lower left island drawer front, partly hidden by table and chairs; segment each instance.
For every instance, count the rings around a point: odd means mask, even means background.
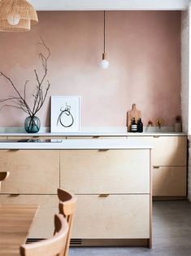
[[[48,195],[0,195],[0,203],[7,205],[39,205],[37,216],[29,231],[28,238],[48,238],[54,233],[54,214],[58,214],[58,197]]]

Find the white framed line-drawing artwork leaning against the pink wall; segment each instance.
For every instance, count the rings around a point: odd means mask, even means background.
[[[51,132],[80,131],[80,96],[51,96]]]

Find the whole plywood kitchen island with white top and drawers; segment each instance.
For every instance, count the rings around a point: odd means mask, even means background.
[[[1,203],[41,205],[29,234],[51,236],[57,188],[76,194],[72,245],[151,247],[152,145],[128,139],[0,143]],[[46,228],[44,228],[46,227]]]

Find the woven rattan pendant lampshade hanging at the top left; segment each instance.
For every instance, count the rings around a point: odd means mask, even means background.
[[[31,24],[37,24],[37,12],[25,0],[2,0],[0,2],[0,31],[25,32]]]

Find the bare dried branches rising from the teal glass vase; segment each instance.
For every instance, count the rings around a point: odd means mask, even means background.
[[[41,78],[39,77],[37,73],[37,69],[34,69],[35,79],[37,81],[37,86],[35,93],[33,94],[33,108],[29,107],[27,101],[26,101],[26,92],[27,92],[27,85],[29,80],[26,80],[24,83],[24,93],[22,94],[14,85],[14,83],[11,81],[11,78],[7,77],[5,73],[0,72],[0,76],[5,77],[7,81],[11,84],[12,88],[15,90],[15,93],[17,96],[10,96],[7,99],[0,99],[0,103],[11,101],[13,104],[6,104],[3,105],[2,108],[5,107],[11,107],[11,108],[19,108],[22,109],[25,113],[28,113],[29,116],[33,117],[37,114],[37,112],[41,109],[43,106],[46,96],[48,94],[48,90],[50,89],[50,82],[47,81],[48,86],[46,87],[45,91],[43,89],[43,82],[45,81],[46,75],[47,75],[47,64],[48,60],[50,58],[50,49],[48,46],[46,46],[46,43],[41,38],[40,42],[37,42],[37,44],[44,46],[47,54],[44,55],[43,53],[39,53],[39,59],[41,60],[41,65],[43,68],[44,73],[42,74]],[[2,109],[0,108],[0,110]]]

